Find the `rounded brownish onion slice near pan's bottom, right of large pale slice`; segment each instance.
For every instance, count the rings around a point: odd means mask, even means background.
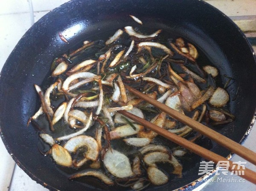
[[[156,167],[148,167],[147,169],[148,179],[154,185],[166,184],[169,178]]]

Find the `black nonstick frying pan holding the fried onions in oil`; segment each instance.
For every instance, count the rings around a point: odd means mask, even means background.
[[[50,190],[93,190],[107,188],[99,182],[93,186],[69,181],[68,174],[38,151],[38,132],[27,120],[40,103],[33,84],[42,84],[49,76],[53,58],[67,52],[84,40],[104,39],[125,26],[140,27],[128,15],[143,21],[143,27],[163,29],[165,35],[182,36],[191,41],[224,74],[234,80],[227,88],[228,109],[236,116],[233,123],[215,130],[240,142],[252,127],[256,108],[256,62],[253,50],[241,30],[223,13],[199,0],[73,0],[48,13],[21,38],[4,65],[0,76],[1,137],[16,163],[34,180]],[[68,40],[61,41],[58,33]],[[239,88],[236,97],[236,91]],[[235,98],[236,97],[236,98]],[[207,140],[206,140],[207,142]],[[230,151],[211,143],[211,150],[227,157]],[[207,146],[207,145],[206,145]],[[183,179],[173,179],[161,187],[147,190],[173,190],[190,183],[198,176],[199,162],[183,164]],[[189,166],[186,167],[186,166]],[[113,188],[112,188],[113,189]]]

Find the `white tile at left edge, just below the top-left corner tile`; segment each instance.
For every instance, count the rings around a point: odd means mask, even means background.
[[[31,26],[29,13],[0,15],[0,69],[20,38]]]

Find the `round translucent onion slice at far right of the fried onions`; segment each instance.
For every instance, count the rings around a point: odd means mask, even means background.
[[[212,97],[209,99],[209,104],[213,105],[214,107],[223,107],[229,101],[229,95],[226,90],[218,87]]]

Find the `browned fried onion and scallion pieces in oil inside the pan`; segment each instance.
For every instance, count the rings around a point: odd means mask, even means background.
[[[90,176],[116,190],[141,190],[166,184],[174,175],[181,178],[188,170],[180,159],[189,151],[116,111],[127,110],[187,139],[195,139],[193,130],[127,92],[125,84],[198,122],[235,120],[227,111],[229,94],[216,82],[218,69],[198,63],[203,53],[191,42],[164,40],[163,33],[126,26],[106,41],[84,41],[53,61],[50,80],[35,85],[41,106],[28,124],[43,126],[39,136],[49,148],[46,155],[76,171],[69,179]]]

